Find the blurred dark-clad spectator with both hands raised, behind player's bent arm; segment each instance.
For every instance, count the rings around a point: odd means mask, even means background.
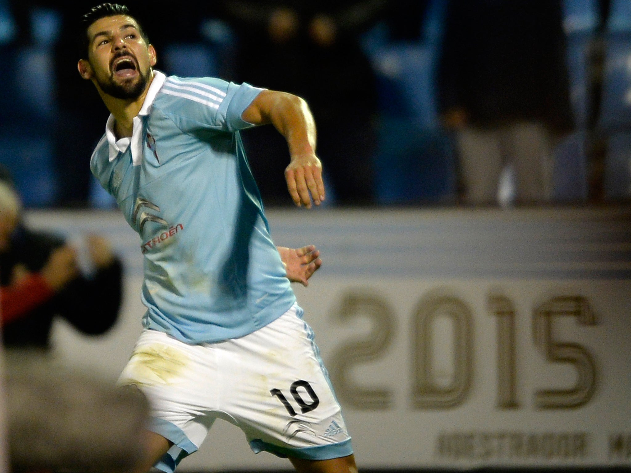
[[[374,199],[377,89],[360,37],[387,11],[385,0],[224,0],[218,13],[237,37],[235,78],[307,100],[318,126],[317,154],[334,201]],[[243,134],[266,204],[290,202],[286,144],[267,127]]]

